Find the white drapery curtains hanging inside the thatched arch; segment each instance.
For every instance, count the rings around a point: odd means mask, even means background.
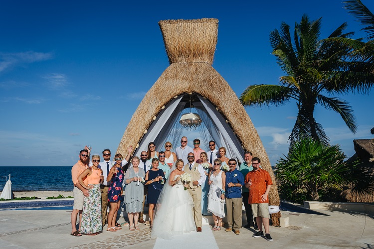
[[[188,141],[196,137],[188,137],[189,131],[186,131],[179,120],[186,106],[185,101],[181,101],[184,95],[171,101],[164,110],[160,112],[156,120],[151,124],[148,132],[143,136],[135,155],[140,157],[143,150],[147,151],[148,143],[153,141],[156,144],[156,150],[164,150],[164,144],[170,140],[173,144],[172,151],[180,146],[181,137],[187,136]],[[205,148],[209,140],[214,140],[216,148],[225,147],[226,157],[235,158],[243,162],[244,150],[231,127],[226,123],[224,117],[215,109],[215,107],[206,99],[198,96],[199,102],[194,102],[194,110],[201,117],[203,122],[197,130],[200,133],[200,140]]]

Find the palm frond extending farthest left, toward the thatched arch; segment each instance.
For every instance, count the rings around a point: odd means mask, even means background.
[[[241,94],[243,106],[280,106],[294,98],[294,89],[279,85],[252,85]]]

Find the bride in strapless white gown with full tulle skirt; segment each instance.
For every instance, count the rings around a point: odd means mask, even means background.
[[[185,173],[182,159],[176,161],[177,169],[170,173],[169,184],[165,184],[155,210],[152,238],[170,239],[173,235],[189,233],[196,229],[192,215],[192,197],[182,184]]]

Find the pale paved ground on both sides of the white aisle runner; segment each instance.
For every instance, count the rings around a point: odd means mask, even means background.
[[[151,249],[149,227],[131,232],[128,227],[118,232],[97,236],[70,236],[71,206],[46,208],[13,208],[0,210],[0,248],[141,248]],[[325,215],[282,211],[289,217],[290,227],[270,228],[273,242],[253,238],[254,230],[213,232],[220,249],[228,248],[368,248],[374,249],[374,217],[365,214],[322,211]],[[209,217],[209,219],[211,219]],[[119,222],[123,222],[121,217]],[[106,227],[105,227],[106,228]],[[104,229],[105,229],[104,228]],[[208,229],[207,226],[203,227]],[[209,245],[201,245],[201,248]],[[188,245],[186,245],[186,248]],[[181,249],[181,247],[179,247]]]

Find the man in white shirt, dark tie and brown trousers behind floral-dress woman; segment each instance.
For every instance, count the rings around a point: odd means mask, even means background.
[[[126,165],[130,159],[131,152],[133,152],[133,147],[129,146],[127,148],[127,155],[126,158],[122,160],[122,166]],[[103,170],[103,176],[104,176],[104,182],[100,185],[101,189],[101,218],[102,218],[102,226],[105,226],[105,223],[107,222],[107,209],[108,209],[108,188],[110,187],[110,182],[107,182],[107,176],[109,173],[109,170],[112,168],[112,166],[116,163],[116,161],[110,161],[110,149],[104,149],[103,150],[103,158],[104,160],[99,163],[98,168]],[[90,162],[90,166],[92,166],[92,162]]]

